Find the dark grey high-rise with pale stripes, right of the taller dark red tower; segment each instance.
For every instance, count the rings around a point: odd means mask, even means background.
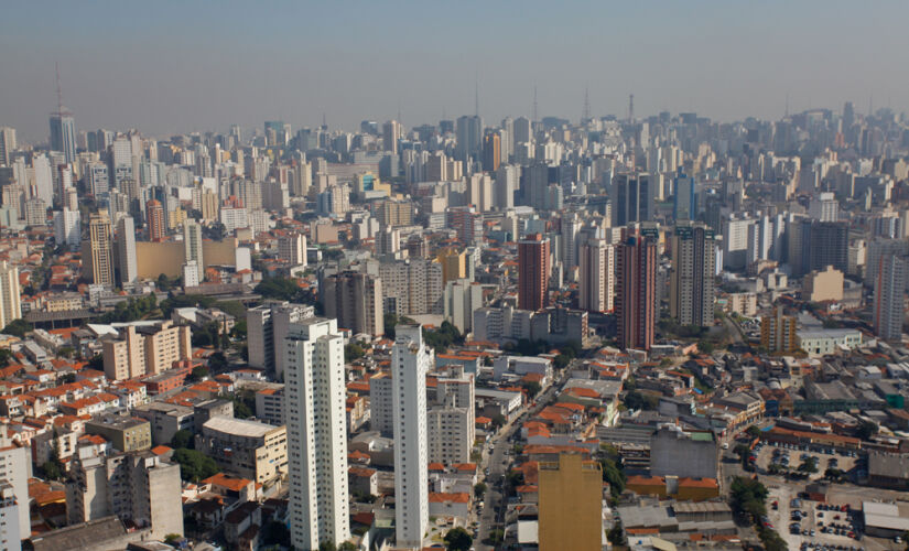
[[[716,244],[702,223],[680,223],[672,237],[672,274],[669,280],[670,315],[682,325],[713,325],[713,281]]]

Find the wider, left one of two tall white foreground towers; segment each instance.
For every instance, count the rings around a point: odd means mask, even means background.
[[[302,320],[290,324],[281,355],[291,543],[299,549],[337,545],[350,536],[344,337],[335,320]]]

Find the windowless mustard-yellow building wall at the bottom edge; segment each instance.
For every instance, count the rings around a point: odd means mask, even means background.
[[[599,464],[563,453],[539,468],[540,551],[603,548],[603,473]]]

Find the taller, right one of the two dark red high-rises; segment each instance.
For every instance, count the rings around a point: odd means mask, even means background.
[[[629,226],[616,257],[618,345],[649,350],[657,318],[656,236]]]

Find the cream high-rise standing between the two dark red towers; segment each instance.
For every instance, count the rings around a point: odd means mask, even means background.
[[[616,251],[606,239],[588,239],[581,246],[578,307],[612,312],[616,294]]]

